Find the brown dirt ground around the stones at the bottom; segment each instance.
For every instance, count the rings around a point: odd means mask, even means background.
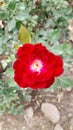
[[[73,130],[73,89],[61,90],[55,93],[45,91],[37,94],[28,107],[32,107],[34,114],[26,119],[26,110],[18,116],[5,113],[0,117],[0,130],[54,130],[56,124],[53,124],[41,112],[43,102],[54,104],[60,112],[58,124],[64,130]],[[60,129],[59,129],[60,130]]]

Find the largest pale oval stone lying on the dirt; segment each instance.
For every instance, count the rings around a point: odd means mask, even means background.
[[[52,123],[57,123],[60,119],[60,113],[57,107],[51,103],[42,103],[41,111],[49,118]]]

